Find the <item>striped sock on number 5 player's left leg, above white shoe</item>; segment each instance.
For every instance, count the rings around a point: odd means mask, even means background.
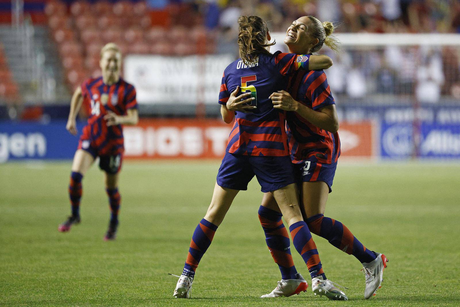
[[[217,226],[205,219],[202,219],[200,224],[196,226],[192,241],[190,242],[189,254],[187,255],[184,270],[182,271],[183,275],[195,276],[195,271],[201,257],[203,257],[209,245],[211,245],[216,230]]]

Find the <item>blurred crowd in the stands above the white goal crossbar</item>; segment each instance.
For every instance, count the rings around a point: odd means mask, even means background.
[[[208,29],[237,26],[240,15],[258,15],[271,31],[283,31],[295,19],[314,15],[340,23],[340,32],[460,32],[458,0],[148,0],[154,9],[183,7],[173,23],[204,23]]]

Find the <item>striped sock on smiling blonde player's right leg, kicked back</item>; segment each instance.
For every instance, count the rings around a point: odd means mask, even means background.
[[[355,256],[361,263],[371,262],[377,258],[377,254],[366,249],[351,231],[338,220],[325,217],[323,214],[316,214],[307,222],[311,232],[327,239],[329,243],[348,255]]]

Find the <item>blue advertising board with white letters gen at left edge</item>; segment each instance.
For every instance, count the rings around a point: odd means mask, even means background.
[[[65,121],[49,124],[0,122],[0,162],[19,159],[71,159],[78,136],[65,129]],[[78,123],[81,133],[84,123]]]

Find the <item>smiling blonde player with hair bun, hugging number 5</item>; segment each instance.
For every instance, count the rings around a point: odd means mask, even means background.
[[[294,20],[286,31],[284,43],[289,52],[312,53],[323,45],[339,50],[339,41],[331,36],[334,25],[321,23],[316,17],[304,16]],[[327,239],[336,248],[353,255],[362,263],[365,273],[364,298],[368,299],[380,287],[387,259],[366,247],[338,220],[324,216],[328,193],[340,156],[339,121],[326,74],[322,70],[298,71],[291,78],[288,92],[278,91],[270,96],[274,108],[288,111],[287,135],[295,177],[299,182],[302,212],[311,232]],[[263,297],[286,296],[291,284],[297,284],[297,272],[289,249],[289,239],[279,236],[281,212],[272,193],[265,193],[259,208],[259,219],[273,259],[280,267],[280,286]],[[283,276],[283,272],[284,276]],[[321,276],[312,278],[315,294],[336,299],[336,288]]]

